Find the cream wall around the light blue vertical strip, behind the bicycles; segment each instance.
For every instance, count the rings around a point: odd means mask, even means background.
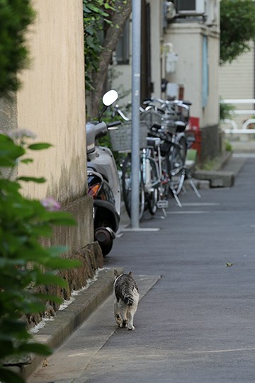
[[[203,38],[208,38],[208,99],[203,105]],[[198,117],[202,133],[201,161],[219,155],[219,89],[218,62],[220,35],[217,29],[199,23],[171,23],[164,43],[173,43],[178,55],[176,72],[169,82],[184,87],[184,99],[191,101],[191,116]]]

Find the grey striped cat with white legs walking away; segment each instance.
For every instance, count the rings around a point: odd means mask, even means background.
[[[133,325],[135,312],[139,301],[138,287],[132,272],[129,274],[118,274],[114,270],[115,282],[113,293],[115,321],[120,327],[127,327],[128,330],[135,330]]]

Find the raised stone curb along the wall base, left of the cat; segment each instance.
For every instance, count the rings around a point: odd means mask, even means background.
[[[116,270],[123,272],[123,269],[117,267]],[[74,301],[64,310],[57,311],[53,320],[47,321],[45,326],[33,335],[34,340],[48,345],[52,349],[59,347],[111,294],[113,271],[113,268],[99,270],[98,279],[87,289],[81,290],[75,295]],[[41,355],[31,355],[30,364],[20,367],[22,377],[27,379],[44,359],[45,357]]]

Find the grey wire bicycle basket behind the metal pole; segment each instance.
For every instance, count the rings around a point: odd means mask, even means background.
[[[131,122],[123,123],[118,126],[118,129],[109,131],[111,138],[112,149],[116,152],[130,152],[131,151],[131,135],[132,125]],[[140,121],[140,148],[147,146],[148,126],[144,121]]]

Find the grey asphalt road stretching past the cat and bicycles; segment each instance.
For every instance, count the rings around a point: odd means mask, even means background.
[[[111,296],[55,353],[62,374],[31,382],[254,383],[254,185],[249,157],[234,187],[188,191],[123,231],[105,266],[137,276],[135,331],[116,328]]]

